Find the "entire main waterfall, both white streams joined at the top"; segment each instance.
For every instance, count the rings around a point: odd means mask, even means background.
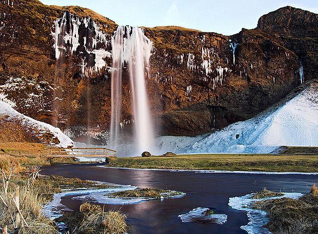
[[[145,71],[149,71],[152,43],[141,28],[118,27],[112,38],[110,144],[117,148],[122,114],[122,70],[128,65],[134,118],[134,144],[137,154],[150,151],[153,129],[146,91]]]

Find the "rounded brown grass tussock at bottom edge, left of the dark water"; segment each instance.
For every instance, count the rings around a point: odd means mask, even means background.
[[[125,219],[120,211],[84,203],[78,211],[68,212],[57,221],[66,223],[71,234],[120,234],[128,230]]]

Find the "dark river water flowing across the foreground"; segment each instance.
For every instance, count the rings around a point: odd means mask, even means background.
[[[240,229],[248,223],[246,212],[228,206],[230,197],[243,196],[266,187],[274,191],[308,193],[317,175],[262,175],[231,173],[194,173],[138,171],[102,168],[96,165],[61,165],[42,168],[43,175],[61,175],[138,187],[155,187],[185,192],[180,199],[152,200],[132,205],[106,205],[128,215],[130,233],[247,233]],[[62,203],[77,209],[81,201],[65,197]],[[197,207],[211,207],[228,216],[225,224],[182,223],[178,215]]]

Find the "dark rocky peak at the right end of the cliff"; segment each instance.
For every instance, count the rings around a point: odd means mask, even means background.
[[[304,66],[305,79],[318,76],[318,14],[293,7],[263,15],[257,28],[279,37]]]

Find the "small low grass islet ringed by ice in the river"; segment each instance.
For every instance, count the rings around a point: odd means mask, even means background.
[[[126,198],[161,198],[166,191],[158,188],[138,188],[134,190],[121,191],[110,194],[111,197],[126,197]]]

